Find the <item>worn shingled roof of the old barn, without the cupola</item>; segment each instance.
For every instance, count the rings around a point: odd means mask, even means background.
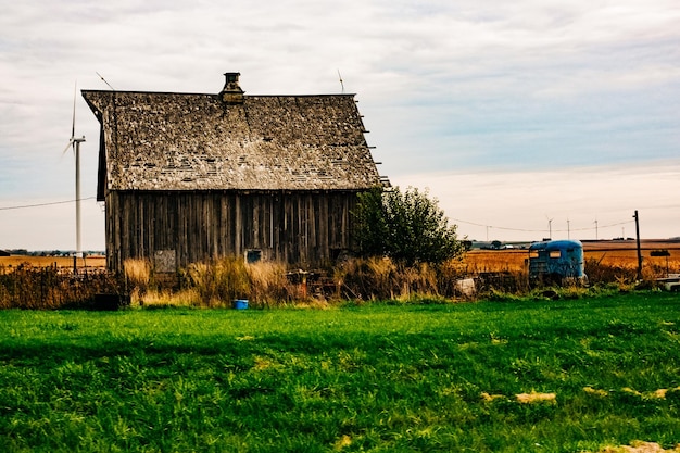
[[[242,93],[242,91],[241,91]],[[380,185],[354,95],[84,90],[106,190],[357,190]]]

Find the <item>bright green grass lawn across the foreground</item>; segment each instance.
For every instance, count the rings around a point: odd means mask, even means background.
[[[2,452],[680,443],[680,298],[0,312]],[[518,397],[519,395],[519,397]]]

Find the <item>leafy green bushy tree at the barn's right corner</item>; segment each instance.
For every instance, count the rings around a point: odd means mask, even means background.
[[[464,252],[456,225],[428,192],[410,187],[360,193],[354,211],[358,252],[364,256],[387,255],[407,264],[441,263]]]

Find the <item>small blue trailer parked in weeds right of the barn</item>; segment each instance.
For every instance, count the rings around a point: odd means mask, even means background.
[[[529,280],[559,285],[587,282],[581,241],[533,242],[529,247]]]

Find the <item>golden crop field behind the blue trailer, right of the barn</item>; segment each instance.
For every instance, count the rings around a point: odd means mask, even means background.
[[[640,242],[643,268],[666,270],[666,257],[651,256],[653,250],[667,250],[668,269],[680,273],[680,241],[642,240]],[[585,261],[594,260],[605,266],[626,268],[638,267],[635,241],[592,241],[583,242]],[[468,272],[521,272],[529,259],[527,249],[471,250],[465,256]],[[662,275],[658,275],[662,277]]]

